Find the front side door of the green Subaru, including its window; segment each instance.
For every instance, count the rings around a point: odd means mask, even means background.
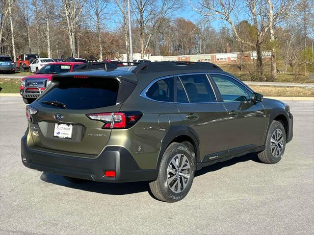
[[[229,155],[262,145],[266,116],[261,103],[251,101],[249,91],[235,78],[210,74],[223,98],[229,118]],[[236,149],[237,148],[237,149]]]

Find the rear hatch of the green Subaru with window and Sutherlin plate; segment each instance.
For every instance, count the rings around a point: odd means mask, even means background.
[[[53,78],[51,86],[31,104],[38,110],[30,122],[35,146],[69,153],[100,154],[111,129],[104,129],[104,122],[87,115],[119,111],[135,85],[115,77]]]

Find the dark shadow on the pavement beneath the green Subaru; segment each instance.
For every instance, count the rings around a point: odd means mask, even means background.
[[[213,172],[219,170],[223,167],[228,167],[237,163],[254,161],[261,163],[257,157],[257,154],[250,153],[241,157],[236,157],[226,162],[220,162],[213,165],[203,167],[201,170],[195,172],[195,177],[204,175],[208,172]],[[151,196],[151,190],[149,188],[148,182],[132,182],[132,183],[105,183],[105,182],[94,182],[94,181],[84,181],[83,183],[71,183],[65,180],[60,175],[55,175],[48,172],[43,172],[40,176],[42,181],[51,183],[54,185],[64,186],[68,188],[75,188],[84,191],[97,192],[102,194],[111,195],[125,195],[138,192],[148,191]],[[154,196],[153,196],[154,197]]]

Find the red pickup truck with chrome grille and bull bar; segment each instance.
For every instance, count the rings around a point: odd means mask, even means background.
[[[52,76],[64,72],[72,72],[81,62],[55,62],[45,65],[34,75],[29,75],[21,80],[20,94],[26,104],[30,104],[48,87]]]

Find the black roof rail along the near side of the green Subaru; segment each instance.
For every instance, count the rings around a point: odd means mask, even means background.
[[[148,73],[161,71],[180,71],[180,70],[219,70],[217,65],[209,62],[193,62],[193,61],[163,61],[141,63],[135,67],[133,73]]]

